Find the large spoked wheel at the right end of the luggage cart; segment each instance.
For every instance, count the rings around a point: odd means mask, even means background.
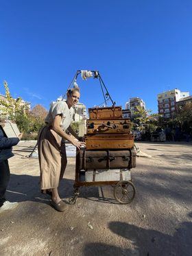
[[[114,197],[122,205],[132,202],[135,193],[136,189],[131,181],[119,181],[114,187]]]

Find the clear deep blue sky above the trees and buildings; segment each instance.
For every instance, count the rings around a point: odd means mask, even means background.
[[[49,108],[78,69],[99,70],[124,106],[192,90],[192,1],[0,0],[0,93]],[[77,80],[80,102],[104,102],[98,80]]]

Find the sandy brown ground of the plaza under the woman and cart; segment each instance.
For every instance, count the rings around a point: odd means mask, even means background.
[[[38,188],[38,159],[27,159],[34,142],[21,141],[10,159],[7,198],[19,207],[0,214],[0,255],[191,255],[192,146],[137,143],[152,158],[137,158],[132,170],[136,198],[112,199],[112,188],[82,188],[75,205],[59,213]],[[75,159],[60,185],[73,194]],[[88,223],[93,226],[88,226]]]

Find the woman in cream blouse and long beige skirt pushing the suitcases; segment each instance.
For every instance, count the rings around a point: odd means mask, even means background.
[[[70,124],[73,120],[73,106],[80,99],[80,89],[73,88],[67,92],[67,101],[52,104],[49,114],[45,118],[47,124],[43,127],[38,136],[38,157],[40,163],[40,186],[44,193],[50,194],[51,205],[58,210],[64,211],[65,203],[58,194],[59,181],[62,179],[67,165],[66,149],[64,139],[71,142],[80,149],[85,143],[77,141],[80,139],[73,131]],[[65,132],[68,130],[72,136]]]

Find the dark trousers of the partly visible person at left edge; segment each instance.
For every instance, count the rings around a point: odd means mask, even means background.
[[[0,207],[5,202],[5,191],[10,181],[10,167],[8,160],[0,163]]]

